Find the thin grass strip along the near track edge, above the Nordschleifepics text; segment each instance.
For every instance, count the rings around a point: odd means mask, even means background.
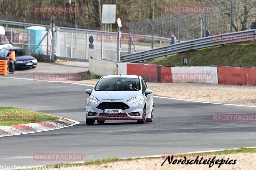
[[[245,147],[241,147],[238,149],[227,149],[227,150],[223,150],[223,151],[216,151],[216,152],[202,152],[202,153],[192,153],[192,154],[173,154],[176,157],[196,157],[196,156],[206,156],[206,155],[227,155],[227,154],[235,154],[235,153],[256,153],[256,148],[245,148]],[[170,154],[171,155],[171,154]],[[152,157],[152,158],[160,158],[163,159],[165,155],[163,155],[163,157]],[[165,157],[167,157],[168,155],[166,155]],[[152,159],[152,158],[136,158],[136,159]],[[73,165],[73,166],[81,166],[81,165],[99,165],[99,164],[106,164],[106,163],[112,163],[112,162],[117,162],[117,161],[130,161],[130,160],[134,160],[132,158],[128,158],[128,159],[119,159],[119,158],[108,158],[108,159],[102,159],[102,160],[95,160],[95,161],[87,161],[84,163],[74,163],[74,164],[56,164],[54,166],[64,166],[64,165]],[[163,159],[164,160],[164,159]]]

